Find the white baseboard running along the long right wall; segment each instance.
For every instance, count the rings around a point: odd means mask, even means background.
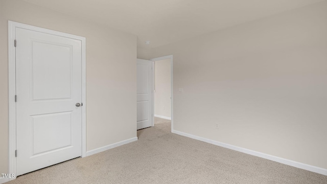
[[[242,152],[242,153],[250,154],[250,155],[253,155],[253,156],[266,158],[266,159],[272,160],[272,161],[277,162],[277,163],[281,163],[281,164],[293,166],[293,167],[296,167],[296,168],[308,170],[308,171],[311,171],[311,172],[327,175],[327,169],[324,169],[324,168],[319,168],[319,167],[316,167],[316,166],[311,166],[311,165],[308,165],[308,164],[295,162],[293,160],[289,160],[289,159],[285,159],[285,158],[281,158],[281,157],[261,153],[261,152],[258,152],[258,151],[253,151],[253,150],[249,150],[249,149],[245,149],[245,148],[241,148],[241,147],[237,147],[237,146],[233,146],[233,145],[229,145],[229,144],[225,144],[225,143],[220,143],[218,141],[209,140],[209,139],[206,139],[204,137],[192,135],[192,134],[189,134],[189,133],[184,133],[184,132],[180,132],[180,131],[176,131],[176,130],[173,130],[172,132],[176,133],[178,135],[190,137],[192,139],[203,141],[203,142],[213,144],[213,145],[216,145],[216,146],[221,146],[221,147],[224,147],[224,148],[228,148],[228,149],[231,149],[231,150],[235,150],[235,151],[239,151],[239,152]]]

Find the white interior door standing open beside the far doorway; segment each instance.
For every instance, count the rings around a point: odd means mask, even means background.
[[[152,61],[137,59],[137,130],[152,126]]]

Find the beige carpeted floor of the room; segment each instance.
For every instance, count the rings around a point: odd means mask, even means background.
[[[138,141],[40,169],[14,183],[327,183],[297,169],[170,132],[170,121],[137,131]],[[6,183],[7,184],[7,183]]]

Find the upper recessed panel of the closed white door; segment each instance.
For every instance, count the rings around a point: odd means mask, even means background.
[[[72,47],[32,41],[33,100],[71,98]]]

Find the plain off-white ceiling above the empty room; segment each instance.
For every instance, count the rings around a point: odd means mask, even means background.
[[[155,48],[323,0],[24,1],[132,33],[137,47]]]

